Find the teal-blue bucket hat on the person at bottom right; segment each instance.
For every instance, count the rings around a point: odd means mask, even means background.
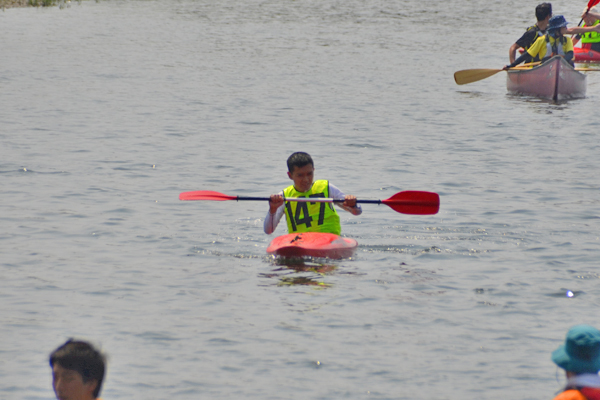
[[[554,350],[552,361],[576,374],[600,371],[600,331],[589,325],[569,329],[565,344]]]

